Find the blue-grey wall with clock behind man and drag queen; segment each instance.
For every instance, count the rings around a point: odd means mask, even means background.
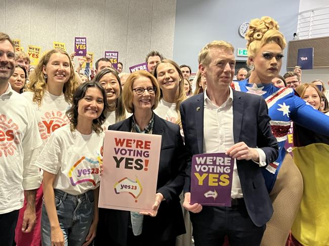
[[[274,18],[286,41],[292,40],[298,12],[299,0],[177,0],[173,58],[178,64],[191,65],[196,72],[197,56],[205,44],[225,40],[235,49],[245,48],[246,41],[238,34],[240,24],[262,16]],[[286,52],[287,48],[280,74],[286,71]]]

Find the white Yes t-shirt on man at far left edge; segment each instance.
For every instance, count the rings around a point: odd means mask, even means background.
[[[28,158],[40,145],[31,104],[9,84],[0,95],[0,214],[22,208],[24,189],[40,186],[39,169]]]

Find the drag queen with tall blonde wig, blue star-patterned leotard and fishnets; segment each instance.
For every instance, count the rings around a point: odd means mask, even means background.
[[[232,87],[264,97],[272,132],[279,144],[278,159],[263,169],[274,213],[267,223],[262,245],[285,245],[303,194],[301,173],[284,149],[291,121],[329,135],[329,117],[307,105],[295,95],[294,89],[278,88],[271,83],[280,72],[286,45],[275,20],[270,17],[252,20],[245,39],[248,41],[247,64],[252,72],[250,78],[234,82]]]

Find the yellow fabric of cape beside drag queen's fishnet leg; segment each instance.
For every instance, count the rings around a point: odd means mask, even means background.
[[[292,234],[303,245],[329,245],[329,145],[313,143],[293,149],[304,193]]]

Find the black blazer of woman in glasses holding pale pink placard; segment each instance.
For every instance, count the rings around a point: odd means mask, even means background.
[[[131,131],[132,117],[108,127],[109,130]],[[144,216],[142,234],[149,241],[169,240],[185,233],[179,195],[185,181],[186,153],[179,126],[154,115],[152,134],[161,135],[160,163],[156,192],[165,198],[155,217]],[[108,236],[127,245],[130,212],[99,209],[95,245],[104,245]]]

